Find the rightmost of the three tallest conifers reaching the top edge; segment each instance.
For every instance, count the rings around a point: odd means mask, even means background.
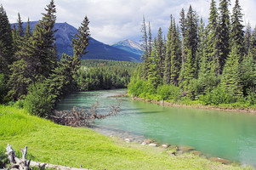
[[[239,0],[236,0],[236,4],[233,8],[233,14],[231,16],[231,33],[230,33],[230,40],[231,40],[231,47],[236,47],[237,52],[239,54],[239,61],[242,61],[242,57],[245,54],[244,48],[244,31],[242,26],[242,8],[239,4]]]

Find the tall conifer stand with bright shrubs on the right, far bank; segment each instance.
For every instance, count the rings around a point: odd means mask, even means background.
[[[191,7],[179,20],[170,16],[167,37],[142,22],[143,63],[129,93],[145,99],[202,100],[204,104],[256,104],[256,27],[242,25],[236,0],[211,1],[208,24]]]

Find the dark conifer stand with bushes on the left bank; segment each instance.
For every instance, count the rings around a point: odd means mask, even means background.
[[[73,56],[63,54],[58,59],[54,33],[56,7],[54,0],[45,8],[42,20],[31,31],[18,14],[13,29],[0,7],[0,103],[19,100],[18,105],[38,116],[46,116],[63,95],[76,89],[74,81],[80,58],[87,52],[89,28],[85,16],[78,33],[72,39]]]

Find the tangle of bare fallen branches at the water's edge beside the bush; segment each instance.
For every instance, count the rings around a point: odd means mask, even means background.
[[[116,116],[120,112],[120,105],[111,105],[111,111],[106,115],[100,115],[97,113],[97,108],[100,103],[97,102],[96,105],[93,105],[92,108],[88,111],[79,110],[77,111],[76,107],[73,107],[73,111],[54,111],[54,116],[49,116],[54,122],[71,127],[88,127],[90,123],[95,122],[96,119],[101,120],[105,119],[108,116]]]

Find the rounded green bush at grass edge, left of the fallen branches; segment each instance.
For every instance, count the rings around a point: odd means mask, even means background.
[[[37,82],[28,88],[28,94],[24,100],[24,108],[31,115],[48,116],[54,106],[53,98],[48,94],[48,89],[42,82]]]

